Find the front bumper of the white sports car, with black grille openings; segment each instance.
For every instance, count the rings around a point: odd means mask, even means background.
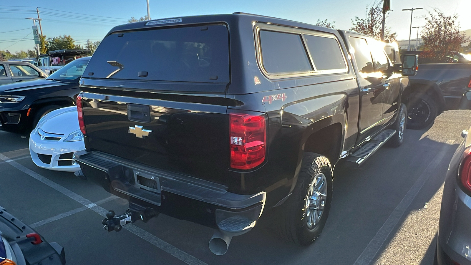
[[[63,135],[60,140],[41,140],[37,129],[30,134],[29,149],[31,159],[41,168],[76,172],[80,166],[73,159],[75,152],[85,149],[83,141],[64,142],[67,135]]]

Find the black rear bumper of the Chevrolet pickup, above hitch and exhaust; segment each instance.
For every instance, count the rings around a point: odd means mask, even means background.
[[[134,205],[234,234],[250,231],[265,206],[264,191],[235,194],[221,184],[137,165],[100,152],[80,151],[75,160],[87,179]],[[226,227],[229,223],[231,227]]]

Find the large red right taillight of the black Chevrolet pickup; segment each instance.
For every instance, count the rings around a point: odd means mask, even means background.
[[[231,167],[251,169],[265,160],[267,127],[265,115],[229,114]]]

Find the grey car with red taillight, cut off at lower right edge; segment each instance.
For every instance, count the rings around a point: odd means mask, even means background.
[[[466,92],[471,100],[471,91]],[[471,130],[471,128],[470,128]],[[461,145],[448,166],[440,209],[435,264],[471,265],[471,135],[463,131]]]

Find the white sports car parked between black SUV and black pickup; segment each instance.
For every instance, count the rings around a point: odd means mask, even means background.
[[[76,172],[75,152],[85,149],[77,107],[59,108],[41,118],[30,134],[29,149],[36,166]]]

